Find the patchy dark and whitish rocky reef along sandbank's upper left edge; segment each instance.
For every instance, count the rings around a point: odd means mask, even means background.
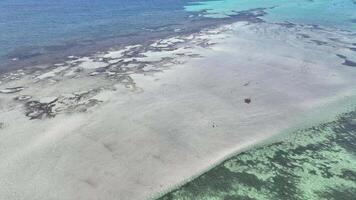
[[[136,86],[133,74],[153,75],[176,64],[183,64],[189,59],[200,58],[194,47],[213,46],[214,43],[206,36],[214,37],[222,31],[224,29],[213,33],[205,30],[189,36],[154,40],[145,45],[126,46],[85,57],[69,56],[63,63],[0,74],[0,95],[10,99],[8,102],[21,104],[24,115],[30,120],[54,118],[63,113],[87,112],[104,103],[103,100],[97,99],[97,96],[115,91],[117,84],[131,91],[141,92],[142,89]],[[68,87],[57,86],[73,80],[86,81],[76,87],[70,85],[73,89],[70,92],[61,91]],[[94,81],[96,84],[90,85]],[[5,84],[11,87],[3,86]],[[83,90],[81,87],[85,84],[90,86],[84,87]],[[29,90],[38,87],[52,87],[53,91],[59,91],[50,96],[29,93]]]

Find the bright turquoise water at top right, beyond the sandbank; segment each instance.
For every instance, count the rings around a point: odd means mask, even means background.
[[[206,17],[224,18],[235,12],[266,8],[269,22],[313,24],[356,31],[355,0],[213,0],[190,4],[187,11],[205,11]]]

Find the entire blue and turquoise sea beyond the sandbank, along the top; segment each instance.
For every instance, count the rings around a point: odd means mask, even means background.
[[[355,0],[2,0],[0,61],[144,41],[256,8],[268,22],[356,30]]]

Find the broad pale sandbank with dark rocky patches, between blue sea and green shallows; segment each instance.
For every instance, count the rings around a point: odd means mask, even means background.
[[[354,108],[347,31],[238,22],[0,79],[0,199],[149,199]]]

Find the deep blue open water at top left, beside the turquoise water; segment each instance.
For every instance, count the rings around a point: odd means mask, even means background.
[[[192,0],[1,0],[0,57],[184,23]]]

